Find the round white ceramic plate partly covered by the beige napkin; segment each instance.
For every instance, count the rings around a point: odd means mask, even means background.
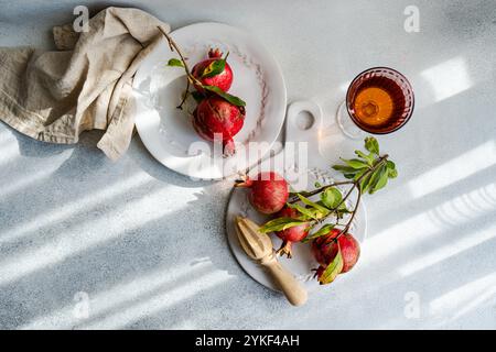
[[[234,70],[229,94],[247,102],[244,128],[234,140],[241,145],[258,142],[258,158],[237,153],[227,163],[214,163],[220,151],[196,134],[187,112],[175,108],[186,78],[183,68],[166,66],[170,58],[179,56],[165,40],[142,63],[133,82],[136,127],[141,140],[160,163],[194,178],[220,179],[247,169],[270,150],[284,121],[287,94],[278,64],[260,42],[226,24],[192,24],[171,36],[191,67],[205,58],[211,47],[229,52],[228,63]],[[194,106],[188,110],[193,111]]]

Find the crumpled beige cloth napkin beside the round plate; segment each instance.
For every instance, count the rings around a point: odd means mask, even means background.
[[[53,30],[57,52],[0,48],[0,120],[40,141],[76,143],[106,130],[98,147],[111,160],[128,148],[134,127],[132,78],[170,25],[138,9],[107,8],[89,31]]]

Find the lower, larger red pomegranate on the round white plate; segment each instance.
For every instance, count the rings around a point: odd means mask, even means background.
[[[207,141],[220,138],[225,155],[236,152],[233,138],[241,130],[244,122],[245,108],[217,96],[203,99],[193,112],[195,131]]]

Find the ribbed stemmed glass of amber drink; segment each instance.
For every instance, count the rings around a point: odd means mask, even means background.
[[[403,75],[374,67],[353,79],[337,109],[337,124],[351,139],[363,139],[365,132],[387,134],[408,122],[413,106],[413,89]]]

